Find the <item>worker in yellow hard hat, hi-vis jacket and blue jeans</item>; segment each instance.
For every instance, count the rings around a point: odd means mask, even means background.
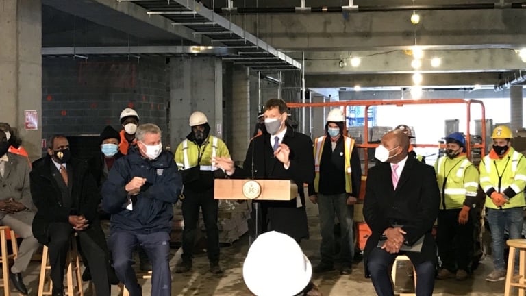
[[[494,271],[488,282],[505,280],[505,229],[509,239],[521,238],[523,230],[526,159],[511,147],[513,134],[509,127],[495,127],[491,138],[493,147],[480,162],[480,186],[486,193],[486,218],[491,232],[491,254]],[[515,263],[518,264],[518,252]],[[518,265],[515,266],[518,270]]]

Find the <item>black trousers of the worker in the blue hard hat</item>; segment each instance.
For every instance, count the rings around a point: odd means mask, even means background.
[[[468,215],[468,222],[458,223],[460,209],[439,210],[436,244],[442,268],[451,272],[458,269],[469,272],[473,250],[473,219]]]

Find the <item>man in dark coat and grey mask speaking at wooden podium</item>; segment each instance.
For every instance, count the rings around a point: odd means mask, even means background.
[[[269,99],[264,106],[266,132],[255,136],[247,150],[243,167],[234,167],[230,158],[216,158],[216,166],[235,179],[253,178],[292,180],[298,186],[298,197],[290,201],[253,201],[251,221],[257,234],[271,230],[288,234],[298,243],[308,238],[307,214],[303,184],[314,180],[312,140],[295,132],[286,123],[287,105],[281,99]],[[255,208],[258,208],[256,219]],[[257,221],[257,222],[255,222]]]

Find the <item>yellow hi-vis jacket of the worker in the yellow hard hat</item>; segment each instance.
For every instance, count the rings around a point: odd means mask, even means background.
[[[491,154],[491,153],[490,153]],[[516,195],[510,199],[509,204],[502,208],[516,208],[526,206],[524,200],[524,188],[526,186],[526,159],[510,147],[503,158],[493,159],[490,154],[484,156],[480,162],[480,186],[484,192],[494,188],[498,193],[503,193],[506,188],[512,188]],[[497,172],[498,170],[498,172]],[[501,175],[501,186],[499,188],[499,174]],[[497,209],[490,197],[486,195],[487,208]]]

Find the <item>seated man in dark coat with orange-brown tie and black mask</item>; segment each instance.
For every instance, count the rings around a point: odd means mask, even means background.
[[[68,139],[52,136],[48,155],[33,163],[31,194],[38,209],[33,234],[49,247],[53,296],[63,295],[64,266],[69,240],[78,234],[80,247],[93,273],[97,296],[110,295],[108,247],[97,218],[101,195],[85,162],[73,160]]]

